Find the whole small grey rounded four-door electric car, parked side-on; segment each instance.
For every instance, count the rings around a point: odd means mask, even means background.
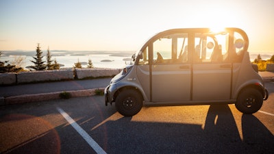
[[[245,31],[170,29],[150,38],[105,88],[105,104],[124,116],[142,105],[236,103],[240,112],[260,110],[268,97],[253,69]]]

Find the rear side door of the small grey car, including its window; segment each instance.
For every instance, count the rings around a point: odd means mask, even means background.
[[[214,38],[197,35],[193,59],[192,101],[230,99],[232,64],[223,61],[222,46]],[[194,56],[194,57],[195,57]]]

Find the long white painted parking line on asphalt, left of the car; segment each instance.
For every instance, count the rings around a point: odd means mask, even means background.
[[[82,129],[82,127],[80,127],[75,120],[73,120],[73,118],[71,118],[71,116],[69,116],[69,114],[66,114],[66,112],[64,112],[64,110],[62,110],[60,107],[56,107],[58,112],[60,112],[60,114],[62,114],[62,116],[64,116],[64,118],[69,122],[69,124],[71,124],[71,126],[82,136],[82,138],[84,138],[84,140],[86,140],[86,142],[88,142],[88,144],[91,146],[91,148],[93,150],[96,151],[96,153],[99,154],[103,154],[105,153],[105,151],[103,151],[103,149],[101,148],[101,146],[99,146],[99,144],[97,144],[97,142],[95,142],[95,140],[93,140],[88,133],[86,133],[86,131],[84,131],[84,129]]]

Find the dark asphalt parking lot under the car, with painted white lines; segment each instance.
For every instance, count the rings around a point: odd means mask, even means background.
[[[259,112],[235,105],[143,107],[123,117],[101,96],[0,107],[0,153],[274,153],[274,84]]]

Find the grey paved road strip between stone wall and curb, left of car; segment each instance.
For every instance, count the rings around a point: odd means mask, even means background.
[[[0,97],[11,97],[21,94],[40,94],[46,92],[104,88],[110,84],[110,79],[111,78],[71,80],[36,84],[21,84],[14,86],[0,86]]]

